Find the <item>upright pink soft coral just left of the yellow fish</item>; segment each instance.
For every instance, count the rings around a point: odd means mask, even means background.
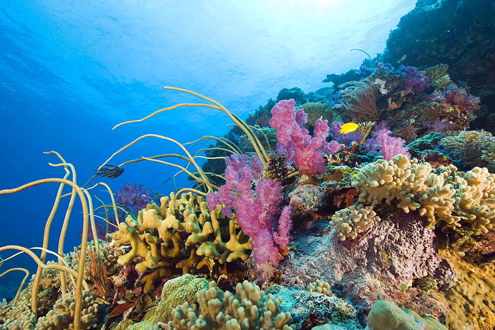
[[[300,174],[323,173],[325,160],[322,151],[335,153],[340,150],[336,141],[328,143],[328,121],[319,118],[311,137],[302,125],[307,123],[304,110],[296,111],[294,99],[281,100],[272,109],[270,126],[277,130],[277,153],[287,156],[286,163],[296,163]]]

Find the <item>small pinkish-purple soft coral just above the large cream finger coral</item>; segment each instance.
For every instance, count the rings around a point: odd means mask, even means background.
[[[405,140],[391,137],[392,132],[386,125],[385,121],[374,125],[372,137],[364,143],[366,150],[372,153],[380,150],[383,159],[387,161],[392,160],[392,157],[398,154],[403,154],[410,158],[409,148],[404,146]]]

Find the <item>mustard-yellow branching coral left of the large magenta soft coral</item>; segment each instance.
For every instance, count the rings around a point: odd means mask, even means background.
[[[181,233],[189,234],[184,239]],[[160,205],[148,204],[139,212],[136,219],[127,217],[120,224],[119,231],[113,234],[112,244],[130,247],[118,257],[121,265],[132,263],[136,257],[142,261],[136,270],[167,269],[160,276],[170,276],[170,268],[182,268],[189,272],[207,257],[225,264],[236,259],[247,260],[247,250],[251,243],[233,220],[221,214],[220,209],[208,212],[201,196],[190,192],[177,198],[172,192],[170,198],[162,197]],[[175,267],[173,267],[175,265]],[[151,274],[144,279],[156,279],[159,274]],[[147,286],[146,291],[151,287]]]

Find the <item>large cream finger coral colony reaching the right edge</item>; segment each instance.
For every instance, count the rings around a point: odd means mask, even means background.
[[[388,162],[379,159],[364,166],[352,180],[354,187],[362,188],[359,201],[372,206],[397,199],[404,212],[417,209],[431,222],[475,223],[484,233],[495,227],[495,174],[486,168],[434,169],[396,155]]]

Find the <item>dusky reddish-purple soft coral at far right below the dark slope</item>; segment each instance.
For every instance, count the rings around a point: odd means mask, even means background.
[[[431,102],[439,102],[443,107],[452,106],[462,112],[473,112],[480,108],[480,98],[468,94],[463,88],[450,84],[443,91],[436,91],[427,96]]]

